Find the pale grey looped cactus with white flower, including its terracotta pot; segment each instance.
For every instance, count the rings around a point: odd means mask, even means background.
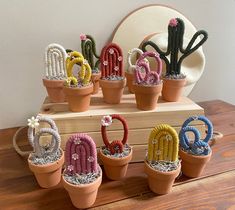
[[[36,134],[34,129],[39,122],[47,122],[51,128],[41,128]],[[60,149],[60,135],[53,120],[48,117],[32,117],[28,119],[28,138],[34,151],[28,157],[28,165],[34,173],[38,184],[43,188],[56,186],[61,179],[64,152]],[[52,135],[51,142],[40,145],[40,137],[44,134]]]

